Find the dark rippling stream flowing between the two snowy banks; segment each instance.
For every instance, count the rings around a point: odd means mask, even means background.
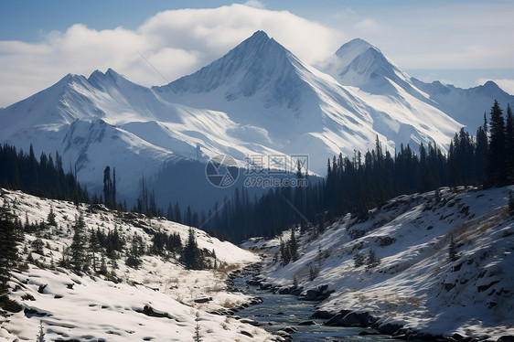
[[[250,277],[234,279],[235,287],[244,294],[262,298],[262,304],[251,305],[237,315],[260,322],[262,328],[275,332],[285,327],[294,327],[296,333],[291,334],[293,341],[389,341],[391,337],[383,335],[359,336],[362,331],[372,331],[361,327],[324,326],[324,320],[310,318],[316,311],[317,302],[299,301],[290,294],[273,294],[259,290],[258,286],[247,285]],[[299,326],[305,321],[315,321],[315,326]],[[270,325],[271,323],[271,325]]]

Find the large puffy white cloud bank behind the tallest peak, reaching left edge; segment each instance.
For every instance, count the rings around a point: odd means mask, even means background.
[[[166,80],[176,80],[220,58],[259,29],[308,63],[325,59],[344,42],[333,29],[287,11],[255,7],[260,4],[160,12],[135,30],[99,31],[76,24],[37,43],[0,41],[0,106],[22,100],[67,73],[88,76],[94,69],[112,68],[147,86],[165,84],[155,69]]]

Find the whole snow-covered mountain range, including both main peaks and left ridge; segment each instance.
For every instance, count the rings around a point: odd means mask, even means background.
[[[428,142],[445,148],[462,126],[444,112],[452,96],[437,106],[429,85],[363,40],[340,48],[326,70],[334,77],[258,31],[162,87],[140,86],[112,69],[67,75],[0,110],[1,141],[25,150],[33,144],[37,154],[59,151],[65,168],[76,169],[93,191],[103,168],[115,167],[130,203],[138,180],[162,176],[165,165],[169,175],[178,162],[206,163],[215,155],[231,155],[240,166],[248,155],[309,155],[310,170],[325,175],[328,157],[366,151],[377,136],[390,151]],[[293,168],[294,159],[286,160]],[[183,191],[163,189],[170,192],[173,201],[184,199]]]

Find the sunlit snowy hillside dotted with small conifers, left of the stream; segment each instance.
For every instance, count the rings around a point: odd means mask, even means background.
[[[102,207],[77,208],[69,202],[1,189],[0,206],[4,203],[22,221],[27,219],[36,225],[47,221],[52,208],[57,225],[26,232],[19,250],[25,250],[24,260],[30,255],[33,261],[28,262],[27,271],[14,272],[9,283],[10,297],[22,304],[23,310],[2,323],[0,341],[35,340],[40,322],[48,341],[193,340],[197,315],[204,341],[271,338],[258,327],[209,314],[227,312],[252,301],[243,294],[228,292],[225,283],[231,270],[259,261],[251,252],[194,230],[198,248],[216,253],[218,270],[187,271],[173,255],[145,255],[134,269],[125,265],[127,255],[119,253],[119,259],[106,258],[106,275],[78,275],[59,267],[59,261],[71,244],[71,227],[79,212],[87,230],[116,230],[126,243],[137,236],[145,248],[152,245],[150,231],[177,233],[185,241],[188,228],[165,219],[147,219]],[[99,255],[97,258],[100,263]]]

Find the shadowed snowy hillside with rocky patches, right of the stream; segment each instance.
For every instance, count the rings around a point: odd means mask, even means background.
[[[339,219],[318,237],[305,233],[300,259],[272,262],[262,282],[292,288],[295,278],[303,294],[327,285],[320,310],[342,312],[335,325],[378,319],[372,326],[388,335],[514,336],[514,219],[507,206],[513,189],[443,188],[391,199],[366,218]],[[244,245],[279,252],[278,238]],[[370,251],[380,262],[368,266]],[[360,316],[367,322],[351,321],[355,315],[345,321],[353,311],[367,313]]]

